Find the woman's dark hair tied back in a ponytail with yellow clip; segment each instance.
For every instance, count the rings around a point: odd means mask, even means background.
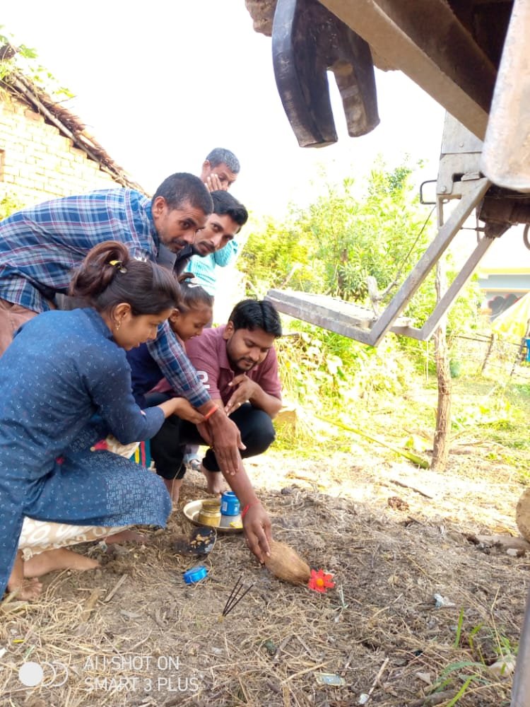
[[[68,293],[87,298],[98,312],[112,312],[126,302],[136,317],[176,307],[179,284],[169,269],[150,260],[135,260],[123,243],[107,240],[88,251]]]

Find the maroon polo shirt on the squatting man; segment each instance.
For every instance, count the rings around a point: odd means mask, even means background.
[[[215,329],[204,329],[200,337],[194,337],[186,342],[187,356],[196,368],[201,382],[204,383],[211,399],[221,399],[223,405],[228,403],[234,392],[228,383],[232,382],[236,375],[230,368],[230,361],[226,354],[226,341],[223,339],[225,327],[226,325]],[[245,373],[250,380],[257,382],[262,390],[281,400],[281,382],[278,378],[278,359],[275,349],[269,349],[264,360]]]

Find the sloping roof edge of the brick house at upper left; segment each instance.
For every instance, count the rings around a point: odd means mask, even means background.
[[[0,62],[12,59],[16,52],[17,49],[11,45],[0,47]],[[86,152],[88,158],[98,163],[100,169],[109,174],[114,182],[146,194],[146,190],[134,182],[125,170],[114,162],[105,148],[88,133],[86,126],[76,115],[53,100],[45,90],[24,76],[16,66],[10,66],[6,76],[0,78],[0,88],[42,115],[47,123],[57,127],[61,135],[70,138],[77,148]]]

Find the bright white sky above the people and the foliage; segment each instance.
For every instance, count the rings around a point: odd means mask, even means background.
[[[198,174],[213,147],[241,163],[232,193],[254,214],[281,218],[327,184],[423,160],[435,179],[444,111],[401,72],[377,71],[381,123],[351,138],[331,78],[338,142],[300,148],[276,90],[271,39],[244,0],[4,2],[1,33],[33,47],[76,96],[66,104],[149,193],[175,172]],[[428,207],[425,207],[428,208]]]

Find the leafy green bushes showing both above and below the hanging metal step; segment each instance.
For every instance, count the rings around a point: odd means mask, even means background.
[[[362,190],[346,179],[327,187],[307,209],[292,209],[283,223],[269,218],[254,230],[240,257],[249,294],[261,297],[269,288],[290,286],[370,305],[371,276],[379,292],[395,284],[379,303],[383,310],[434,235],[432,211],[419,203],[410,176],[408,165],[391,171],[376,165]],[[404,314],[420,327],[435,299],[432,275]],[[477,302],[473,288],[457,300],[449,332],[473,325]],[[410,381],[411,361],[424,363],[425,344],[415,339],[389,335],[378,349],[370,349],[304,322],[290,322],[293,329],[300,339],[285,344],[283,378],[300,402],[340,407],[371,391],[399,392]]]

